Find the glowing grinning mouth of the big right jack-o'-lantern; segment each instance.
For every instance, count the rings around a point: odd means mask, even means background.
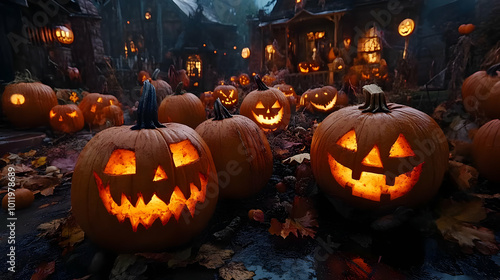
[[[358,180],[353,179],[352,169],[337,162],[328,154],[328,163],[333,177],[343,188],[351,188],[352,195],[372,201],[381,201],[382,196],[394,200],[407,194],[418,182],[424,163],[420,163],[411,171],[398,175],[394,180],[384,174],[361,172]]]

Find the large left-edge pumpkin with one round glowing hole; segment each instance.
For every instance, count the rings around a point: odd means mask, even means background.
[[[50,109],[56,105],[52,88],[39,82],[9,84],[2,94],[2,111],[17,128],[49,125]]]

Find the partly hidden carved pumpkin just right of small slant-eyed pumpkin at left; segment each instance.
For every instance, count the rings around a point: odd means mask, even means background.
[[[91,128],[97,128],[105,123],[102,109],[109,105],[119,105],[118,99],[113,95],[89,93],[85,95],[78,107],[83,113],[85,122]]]

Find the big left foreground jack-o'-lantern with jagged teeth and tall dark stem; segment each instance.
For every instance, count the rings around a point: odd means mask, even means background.
[[[90,239],[115,251],[158,251],[189,242],[217,203],[207,145],[185,125],[158,123],[154,95],[146,81],[137,125],[99,132],[75,166],[75,219]]]

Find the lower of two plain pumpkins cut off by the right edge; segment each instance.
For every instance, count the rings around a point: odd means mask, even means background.
[[[479,128],[472,142],[472,156],[481,175],[500,182],[500,120],[491,120]]]

